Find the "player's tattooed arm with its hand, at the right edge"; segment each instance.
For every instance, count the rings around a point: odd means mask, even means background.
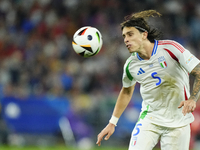
[[[179,105],[179,108],[183,107],[183,114],[193,112],[196,108],[196,102],[200,98],[200,64],[198,64],[191,73],[194,76],[194,85],[193,90],[190,95],[190,98],[187,101],[182,101]]]

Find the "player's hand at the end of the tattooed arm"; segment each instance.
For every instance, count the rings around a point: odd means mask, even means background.
[[[178,108],[183,107],[182,113],[185,116],[187,113],[193,112],[196,108],[196,102],[192,99],[182,101]]]

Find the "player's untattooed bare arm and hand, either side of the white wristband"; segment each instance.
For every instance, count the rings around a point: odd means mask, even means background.
[[[131,100],[134,89],[135,89],[135,84],[128,88],[122,87],[112,114],[114,118],[117,119],[120,118],[120,116],[122,115],[122,113],[124,112],[124,110],[126,109],[127,105]],[[98,134],[96,142],[98,146],[101,145],[101,141],[103,140],[104,136],[106,136],[104,139],[108,140],[110,136],[114,133],[116,124],[113,124],[111,122],[112,121],[110,121],[108,125]]]

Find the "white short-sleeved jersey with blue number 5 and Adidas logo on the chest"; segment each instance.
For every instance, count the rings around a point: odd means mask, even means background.
[[[199,62],[172,40],[155,41],[149,60],[133,53],[124,65],[122,82],[123,87],[140,83],[143,102],[139,119],[166,127],[181,127],[193,122],[192,113],[184,116],[178,106],[190,97],[189,73]]]

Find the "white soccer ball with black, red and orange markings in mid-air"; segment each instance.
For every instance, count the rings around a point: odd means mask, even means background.
[[[94,27],[82,27],[74,33],[72,47],[77,54],[83,57],[98,54],[102,45],[102,35]]]

